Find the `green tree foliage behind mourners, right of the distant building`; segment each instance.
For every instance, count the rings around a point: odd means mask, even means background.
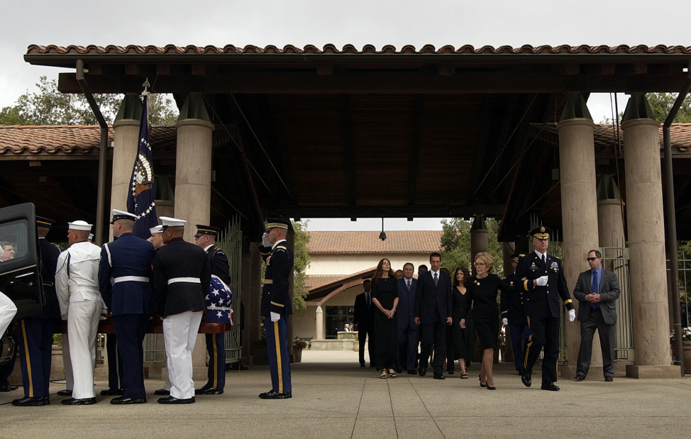
[[[450,218],[441,221],[441,266],[448,268],[453,274],[457,267],[470,269],[472,262],[470,255],[470,221],[463,218]],[[499,223],[494,218],[485,220],[487,226],[487,238],[490,244],[490,254],[494,257],[494,269],[492,272],[499,277],[504,277],[502,243],[497,242]],[[470,269],[472,272],[472,269]]]

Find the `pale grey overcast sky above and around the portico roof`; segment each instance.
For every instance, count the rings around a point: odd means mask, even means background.
[[[416,48],[431,44],[691,46],[688,0],[247,0],[4,1],[0,16],[0,107],[35,91],[38,77],[60,69],[34,67],[23,55],[38,45],[257,45],[328,43]],[[69,70],[68,70],[69,71]],[[74,70],[72,70],[74,72]],[[626,96],[619,95],[619,108]],[[611,117],[609,95],[592,96],[593,119]],[[438,229],[438,220],[394,221],[389,230]],[[377,230],[381,220],[343,224]],[[330,220],[311,230],[344,230]],[[376,223],[376,224],[374,224]],[[400,226],[394,226],[400,224]],[[413,226],[415,224],[415,226]]]

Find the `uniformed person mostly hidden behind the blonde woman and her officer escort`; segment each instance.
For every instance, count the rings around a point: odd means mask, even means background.
[[[516,265],[518,265],[519,255],[514,253],[511,255],[511,266],[514,269],[512,274],[509,274],[504,282],[511,287],[510,291],[502,291],[501,310],[502,310],[502,324],[509,326],[511,333],[511,348],[514,352],[514,367],[523,374],[523,362],[525,356],[524,346],[528,345],[528,338],[530,337],[530,327],[526,320],[526,314],[523,312],[523,292],[517,288],[519,282],[516,281]]]

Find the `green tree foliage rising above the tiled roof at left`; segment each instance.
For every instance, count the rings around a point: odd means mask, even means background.
[[[0,125],[98,125],[96,116],[83,94],[62,94],[57,80],[40,77],[38,91],[26,91],[13,106],[0,111]],[[150,94],[149,123],[172,125],[177,120],[177,109],[170,95]],[[123,94],[94,94],[94,99],[106,119],[113,123],[123,100]]]

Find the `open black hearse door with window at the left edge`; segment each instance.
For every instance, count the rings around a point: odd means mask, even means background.
[[[0,242],[12,245],[14,257],[0,261],[0,291],[17,306],[16,319],[40,313],[40,252],[33,203],[0,209]]]

